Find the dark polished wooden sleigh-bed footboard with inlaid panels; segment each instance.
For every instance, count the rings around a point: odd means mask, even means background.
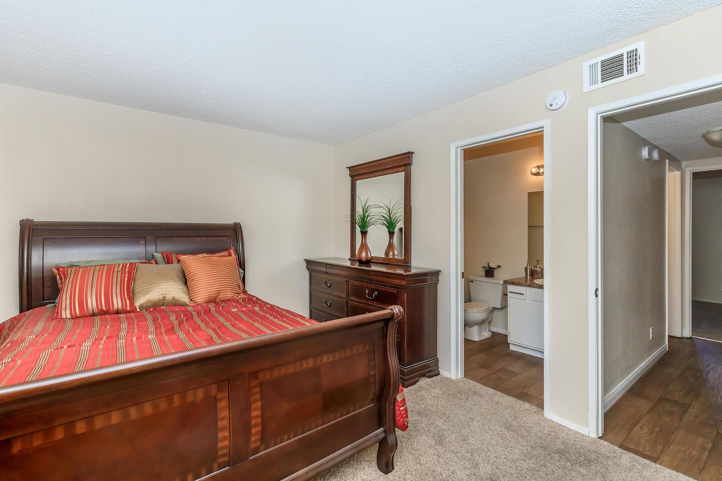
[[[393,469],[401,308],[0,389],[0,479],[308,480]]]

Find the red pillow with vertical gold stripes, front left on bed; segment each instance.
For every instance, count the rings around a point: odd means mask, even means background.
[[[56,319],[136,312],[133,278],[138,264],[90,265],[70,268],[53,265],[60,295]]]

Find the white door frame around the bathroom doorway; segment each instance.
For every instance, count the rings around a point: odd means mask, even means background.
[[[549,154],[549,120],[528,123],[505,131],[467,138],[451,144],[451,378],[464,377],[464,149],[523,136],[544,133],[544,415],[549,418],[549,291],[552,269],[549,262],[549,219],[552,158]]]

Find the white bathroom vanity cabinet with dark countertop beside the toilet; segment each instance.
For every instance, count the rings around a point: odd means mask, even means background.
[[[544,357],[544,285],[533,278],[506,279],[509,348]]]

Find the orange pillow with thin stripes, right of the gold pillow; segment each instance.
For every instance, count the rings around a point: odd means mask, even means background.
[[[238,257],[179,256],[188,281],[193,304],[220,302],[243,297],[243,283],[238,275]]]

